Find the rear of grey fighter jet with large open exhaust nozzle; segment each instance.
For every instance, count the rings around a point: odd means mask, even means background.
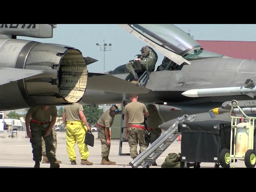
[[[89,73],[87,66],[98,60],[74,47],[17,39],[52,38],[54,28],[56,24],[0,24],[0,111],[72,104],[81,100],[86,88],[149,91],[115,76]],[[117,85],[110,87],[108,82]]]

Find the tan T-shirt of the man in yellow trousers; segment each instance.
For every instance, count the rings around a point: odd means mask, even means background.
[[[67,121],[80,121],[79,112],[84,111],[83,106],[79,103],[64,106],[63,113],[66,115]]]

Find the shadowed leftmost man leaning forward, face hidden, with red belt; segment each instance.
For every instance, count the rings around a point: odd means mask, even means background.
[[[31,120],[30,117],[32,118]],[[34,168],[40,168],[40,162],[42,160],[42,137],[45,141],[46,156],[50,162],[50,168],[60,168],[60,164],[56,163],[52,135],[52,127],[56,122],[56,118],[56,106],[43,105],[31,107],[26,114],[26,130],[33,148]]]

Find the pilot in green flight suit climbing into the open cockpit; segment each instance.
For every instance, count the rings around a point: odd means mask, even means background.
[[[138,81],[138,73],[142,73],[147,69],[148,72],[153,72],[158,59],[156,52],[149,46],[142,47],[140,52],[140,58],[136,58],[134,61],[126,64],[126,70],[128,70],[131,75],[132,83]]]

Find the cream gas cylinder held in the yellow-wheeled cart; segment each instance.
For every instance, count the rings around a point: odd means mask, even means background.
[[[248,122],[236,125],[236,156],[242,157],[248,150],[249,128],[252,126]]]

